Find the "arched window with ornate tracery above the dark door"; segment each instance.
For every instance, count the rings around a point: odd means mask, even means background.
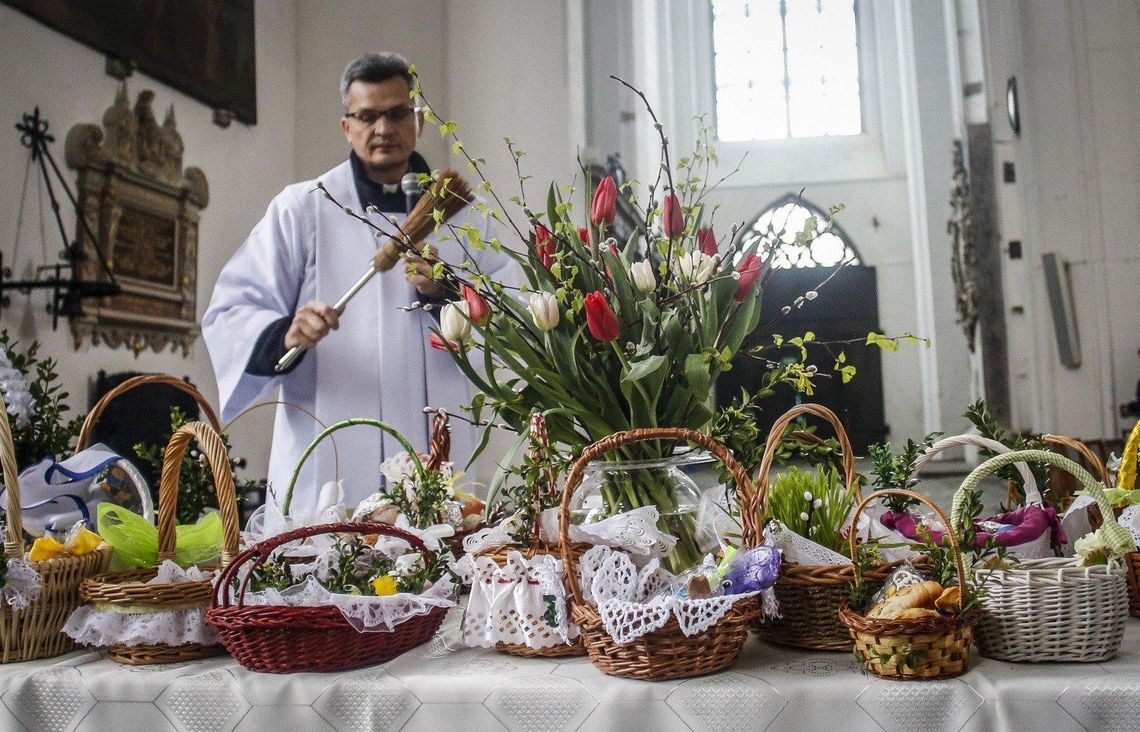
[[[815,217],[820,234],[806,244],[797,244],[796,235],[804,230],[811,217]],[[772,267],[775,269],[863,263],[847,233],[836,223],[828,226],[828,214],[824,211],[792,193],[760,211],[744,227],[741,237],[744,251],[757,245],[757,251],[764,257],[774,251]]]

